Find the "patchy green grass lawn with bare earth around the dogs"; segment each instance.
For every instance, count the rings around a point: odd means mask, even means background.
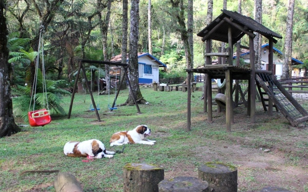
[[[75,95],[71,119],[52,116],[44,127],[23,127],[10,137],[0,138],[0,191],[54,191],[53,182],[59,172],[72,173],[84,191],[123,191],[123,166],[126,163],[156,164],[165,178],[197,177],[197,168],[208,161],[230,163],[238,168],[238,191],[258,191],[264,186],[278,186],[292,191],[308,192],[308,130],[291,127],[281,115],[270,117],[257,103],[256,123],[250,123],[246,108],[234,110],[231,133],[225,130],[225,114],[213,112],[213,123],[203,113],[202,92],[192,93],[192,130],[186,131],[187,92],[153,91],[140,88],[147,105],[121,106],[107,110],[113,95],[94,96],[99,103],[98,122],[89,112],[90,96]],[[213,93],[214,94],[214,93]],[[116,104],[128,98],[128,89],[120,92]],[[70,96],[63,97],[68,112]],[[308,110],[308,100],[298,100]],[[14,106],[18,107],[18,106]],[[213,110],[216,110],[213,105]],[[16,122],[21,122],[16,118]],[[111,135],[145,124],[151,129],[153,146],[125,145],[124,153],[113,158],[83,163],[67,157],[63,146],[67,141],[99,139],[108,151],[123,146],[109,146]],[[270,152],[265,153],[265,149]],[[45,171],[45,172],[31,172]]]

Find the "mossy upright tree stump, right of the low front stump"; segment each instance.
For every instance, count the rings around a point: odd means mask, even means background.
[[[209,183],[210,191],[237,192],[237,168],[208,162],[198,168],[198,178]]]

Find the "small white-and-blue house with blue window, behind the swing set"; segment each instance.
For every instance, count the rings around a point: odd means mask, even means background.
[[[111,62],[121,62],[122,55],[111,58]],[[128,57],[126,58],[128,63]],[[159,83],[159,67],[167,67],[149,53],[138,53],[138,73],[140,84]]]

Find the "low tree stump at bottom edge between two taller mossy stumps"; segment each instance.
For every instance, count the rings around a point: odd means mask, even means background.
[[[175,177],[158,183],[159,192],[209,192],[209,184],[195,177]]]

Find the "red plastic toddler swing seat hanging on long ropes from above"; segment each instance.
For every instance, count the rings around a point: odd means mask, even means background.
[[[38,56],[36,60],[35,65],[35,73],[34,73],[34,83],[32,88],[32,94],[31,94],[31,100],[30,100],[30,106],[29,106],[29,112],[28,112],[28,118],[29,118],[29,124],[31,127],[37,127],[37,126],[44,126],[51,122],[51,116],[50,111],[48,107],[48,99],[47,99],[47,89],[46,89],[46,79],[45,79],[45,67],[44,67],[44,49],[43,49],[43,37],[42,33],[44,31],[44,26],[40,26],[40,35],[39,35],[39,48],[38,48]],[[43,75],[43,109],[35,110],[35,96],[36,96],[36,85],[37,85],[37,79],[38,79],[38,69],[39,69],[39,53],[40,53],[40,47],[42,45],[42,75]],[[34,97],[33,97],[34,93]],[[31,103],[33,98],[33,111],[30,111]],[[47,104],[47,109],[45,108],[45,100]]]

